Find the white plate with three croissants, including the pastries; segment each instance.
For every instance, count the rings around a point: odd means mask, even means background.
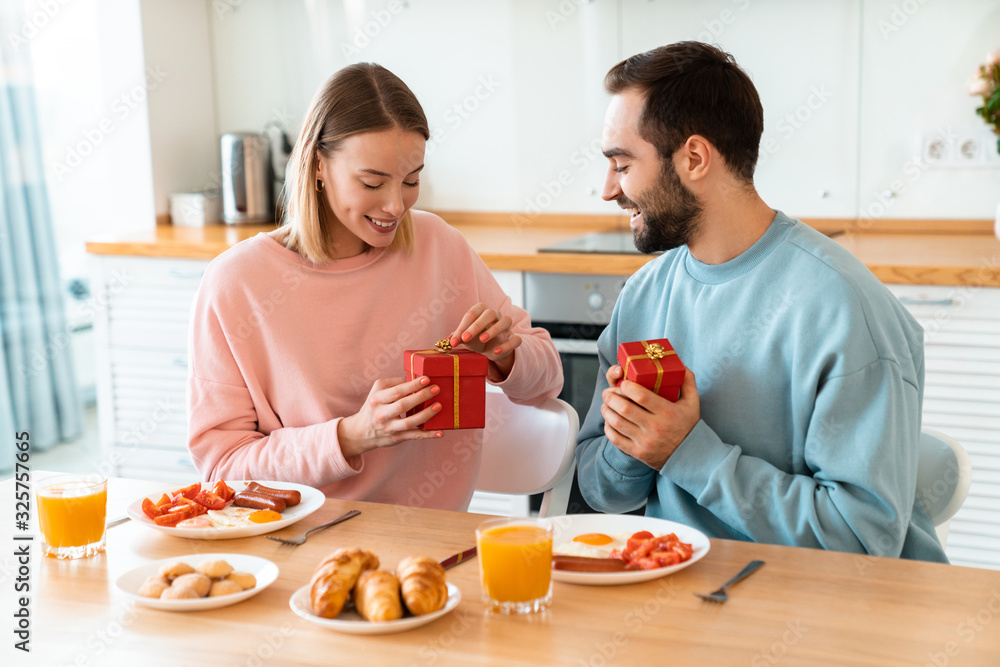
[[[358,635],[404,632],[427,625],[462,601],[432,558],[407,556],[394,572],[379,569],[371,551],[337,549],[316,568],[289,605],[317,625]]]

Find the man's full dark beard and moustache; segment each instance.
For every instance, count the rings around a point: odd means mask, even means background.
[[[653,253],[687,245],[701,224],[702,206],[688,190],[670,160],[663,161],[660,183],[633,202],[625,195],[616,201],[622,208],[638,208],[642,225],[632,232],[636,250]]]

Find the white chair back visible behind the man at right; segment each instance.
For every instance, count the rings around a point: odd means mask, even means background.
[[[951,517],[965,502],[972,481],[972,463],[954,438],[925,428],[920,433],[917,496],[934,522],[941,546],[948,542]]]

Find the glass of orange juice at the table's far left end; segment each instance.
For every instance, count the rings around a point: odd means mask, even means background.
[[[42,553],[87,558],[104,551],[108,479],[96,473],[57,475],[35,484]]]

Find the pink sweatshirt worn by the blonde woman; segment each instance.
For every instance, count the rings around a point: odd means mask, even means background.
[[[336,498],[465,510],[482,431],[345,459],[337,423],[378,378],[403,377],[403,351],[429,349],[477,302],[523,339],[498,386],[538,404],[562,388],[548,333],[511,305],[462,235],[413,212],[415,247],[315,265],[259,234],[209,265],[192,311],[191,456],[205,480],[298,482]]]

